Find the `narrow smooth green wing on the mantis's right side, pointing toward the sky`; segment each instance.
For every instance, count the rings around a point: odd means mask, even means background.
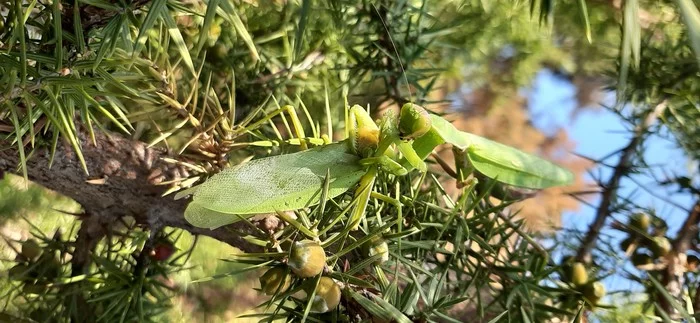
[[[429,154],[432,148],[442,142],[447,142],[465,150],[469,161],[480,173],[497,179],[499,182],[519,187],[543,189],[566,185],[574,179],[574,175],[570,171],[545,159],[477,135],[459,131],[450,122],[437,115],[430,117],[433,129],[426,134],[428,137],[419,138],[415,143],[419,145],[417,148],[420,148],[416,150],[421,150],[419,154],[425,154],[424,151]]]

